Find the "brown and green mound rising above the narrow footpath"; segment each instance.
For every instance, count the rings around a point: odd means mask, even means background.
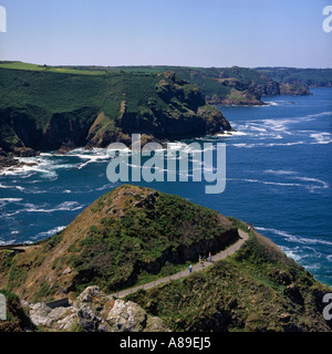
[[[111,293],[174,273],[237,239],[232,222],[214,210],[124,185],[25,252],[0,251],[0,287],[32,301],[87,285]]]

